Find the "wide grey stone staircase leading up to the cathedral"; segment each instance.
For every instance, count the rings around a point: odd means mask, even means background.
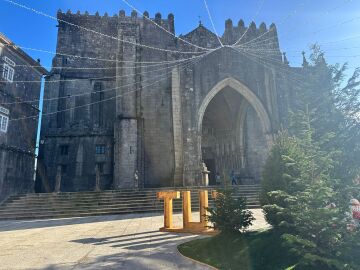
[[[258,185],[232,187],[236,197],[247,199],[249,208],[258,208]],[[190,187],[193,211],[199,210],[198,190],[204,187]],[[216,187],[206,187],[215,190]],[[162,212],[163,201],[156,199],[156,192],[166,189],[109,190],[101,192],[30,193],[9,197],[0,205],[0,220],[47,219],[97,215],[114,215],[144,212]],[[185,190],[185,188],[176,188]],[[174,211],[182,210],[182,200],[174,200]],[[213,199],[209,193],[209,206]]]

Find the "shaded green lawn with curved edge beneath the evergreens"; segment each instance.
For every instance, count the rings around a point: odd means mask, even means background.
[[[178,249],[187,257],[226,270],[290,270],[297,263],[273,230],[219,234],[181,244]]]

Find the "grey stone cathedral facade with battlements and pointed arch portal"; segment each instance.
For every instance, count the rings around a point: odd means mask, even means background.
[[[219,40],[201,23],[180,35],[186,43],[147,12],[57,17],[38,170],[48,189],[59,171],[62,191],[93,190],[96,171],[102,189],[201,185],[203,163],[210,184],[232,170],[244,183],[260,180],[293,99],[287,71],[297,72],[275,25],[227,20],[224,47],[210,52],[200,47]],[[172,14],[151,20],[175,33]],[[231,48],[241,36],[243,44],[257,38],[257,49]]]

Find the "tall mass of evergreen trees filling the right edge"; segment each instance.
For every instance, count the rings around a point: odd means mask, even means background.
[[[309,80],[297,91],[288,133],[279,133],[263,173],[267,221],[298,256],[295,269],[360,269],[359,230],[350,232],[352,180],[360,164],[360,70],[343,87],[346,66],[329,67],[314,47]],[[336,207],[328,207],[330,204]]]

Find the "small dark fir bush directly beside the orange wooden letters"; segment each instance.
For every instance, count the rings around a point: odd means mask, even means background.
[[[207,210],[207,219],[213,228],[222,232],[243,232],[254,221],[252,212],[246,210],[246,200],[234,198],[231,189],[220,191],[215,198],[215,207]]]

